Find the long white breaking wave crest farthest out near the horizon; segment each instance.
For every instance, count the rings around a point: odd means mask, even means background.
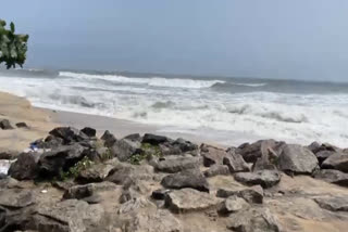
[[[60,76],[73,77],[77,79],[92,79],[92,80],[108,80],[119,83],[138,83],[151,87],[170,87],[170,88],[184,88],[184,89],[204,89],[214,86],[215,83],[224,83],[223,80],[194,80],[183,78],[164,78],[164,77],[125,77],[121,75],[92,75],[92,74],[78,74],[71,72],[60,72]]]

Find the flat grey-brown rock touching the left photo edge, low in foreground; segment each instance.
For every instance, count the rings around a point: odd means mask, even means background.
[[[0,206],[7,208],[23,208],[35,204],[35,195],[30,190],[0,190]]]

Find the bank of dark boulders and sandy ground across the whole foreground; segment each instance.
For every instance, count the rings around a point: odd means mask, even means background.
[[[348,153],[55,128],[0,180],[0,231],[346,231]],[[32,144],[32,145],[33,145]]]

